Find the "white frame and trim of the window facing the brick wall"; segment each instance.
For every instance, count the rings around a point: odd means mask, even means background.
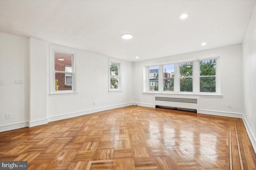
[[[67,55],[72,55],[72,90],[55,90],[55,73],[62,72],[65,73],[65,84],[66,84],[66,71],[55,71],[54,70],[54,53],[64,53]],[[50,57],[50,96],[58,95],[76,95],[78,94],[78,83],[77,83],[77,73],[76,73],[76,62],[77,62],[77,51],[73,49],[63,47],[60,45],[49,45],[49,57]]]

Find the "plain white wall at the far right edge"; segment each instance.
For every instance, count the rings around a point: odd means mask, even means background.
[[[242,50],[244,122],[256,150],[256,5],[244,36]]]

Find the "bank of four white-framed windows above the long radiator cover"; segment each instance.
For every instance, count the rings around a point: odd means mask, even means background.
[[[144,91],[220,95],[219,62],[216,56],[146,66]]]

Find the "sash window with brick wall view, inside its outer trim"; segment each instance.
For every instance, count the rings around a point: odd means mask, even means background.
[[[74,91],[74,55],[54,52],[54,91]]]

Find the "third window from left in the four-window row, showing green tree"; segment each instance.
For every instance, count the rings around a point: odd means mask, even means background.
[[[193,62],[180,63],[180,91],[193,91]]]

